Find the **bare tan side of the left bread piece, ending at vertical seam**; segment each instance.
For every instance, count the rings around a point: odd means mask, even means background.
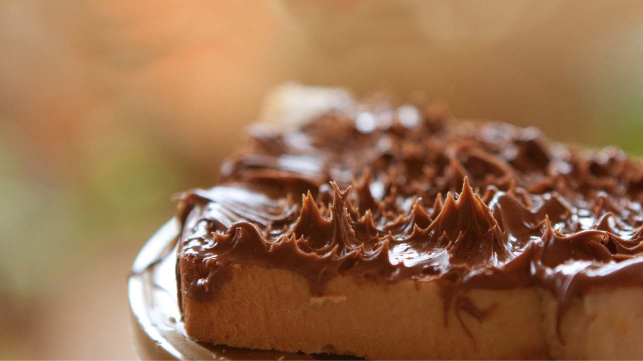
[[[471,290],[466,297],[475,307],[491,310],[485,319],[451,307],[445,322],[435,282],[338,276],[316,297],[305,278],[288,270],[236,265],[226,273],[228,280],[209,301],[182,292],[191,337],[241,348],[372,359],[548,357],[541,296],[534,288]]]

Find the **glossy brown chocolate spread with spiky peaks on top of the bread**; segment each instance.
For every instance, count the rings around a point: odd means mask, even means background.
[[[616,148],[381,102],[252,136],[219,186],[182,197],[194,299],[215,295],[231,264],[297,272],[314,294],[338,274],[539,286],[560,313],[595,286],[643,286],[643,164]]]

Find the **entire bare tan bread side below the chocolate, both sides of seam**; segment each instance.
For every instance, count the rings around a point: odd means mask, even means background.
[[[185,292],[186,332],[239,348],[336,353],[369,359],[631,359],[643,355],[643,290],[593,290],[556,331],[558,301],[538,288],[469,290],[484,319],[451,304],[433,281],[381,283],[338,276],[317,297],[282,269],[228,266],[208,301]],[[454,302],[455,303],[455,302]],[[467,334],[470,333],[471,335]]]

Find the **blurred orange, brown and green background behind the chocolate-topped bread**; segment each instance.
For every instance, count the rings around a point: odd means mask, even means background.
[[[0,358],[134,358],[126,279],[276,85],[643,154],[643,1],[0,2]]]

